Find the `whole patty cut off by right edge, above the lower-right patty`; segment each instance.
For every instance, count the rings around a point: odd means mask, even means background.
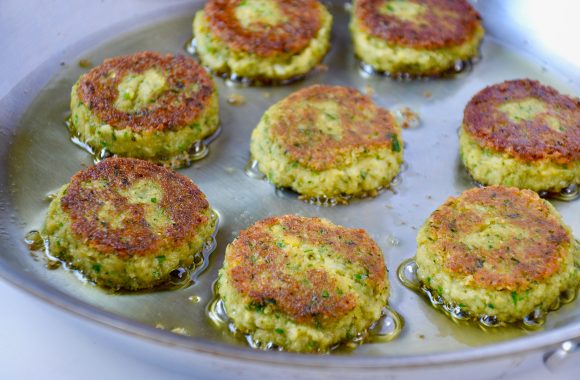
[[[486,87],[465,108],[459,142],[476,181],[559,192],[580,183],[580,99],[529,79]]]

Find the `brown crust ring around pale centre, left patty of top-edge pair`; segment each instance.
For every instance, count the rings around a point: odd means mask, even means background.
[[[254,23],[244,28],[235,15],[243,0],[209,0],[204,8],[211,30],[231,49],[268,57],[298,53],[321,27],[321,5],[316,0],[272,0],[287,21],[279,25]]]

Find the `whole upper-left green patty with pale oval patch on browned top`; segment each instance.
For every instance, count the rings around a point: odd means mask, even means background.
[[[190,163],[219,126],[213,80],[192,58],[150,51],[105,60],[71,92],[71,133],[93,152]]]

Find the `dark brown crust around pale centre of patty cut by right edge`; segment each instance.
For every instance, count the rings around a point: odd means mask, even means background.
[[[514,121],[498,108],[529,98],[546,106],[531,120]],[[563,130],[550,128],[548,118],[557,120]],[[463,128],[483,147],[521,160],[565,164],[580,159],[580,99],[538,81],[519,79],[484,88],[465,108]]]

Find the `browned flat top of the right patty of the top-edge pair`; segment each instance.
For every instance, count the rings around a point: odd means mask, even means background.
[[[371,35],[417,49],[461,45],[481,24],[481,17],[465,0],[357,0],[354,12]]]

